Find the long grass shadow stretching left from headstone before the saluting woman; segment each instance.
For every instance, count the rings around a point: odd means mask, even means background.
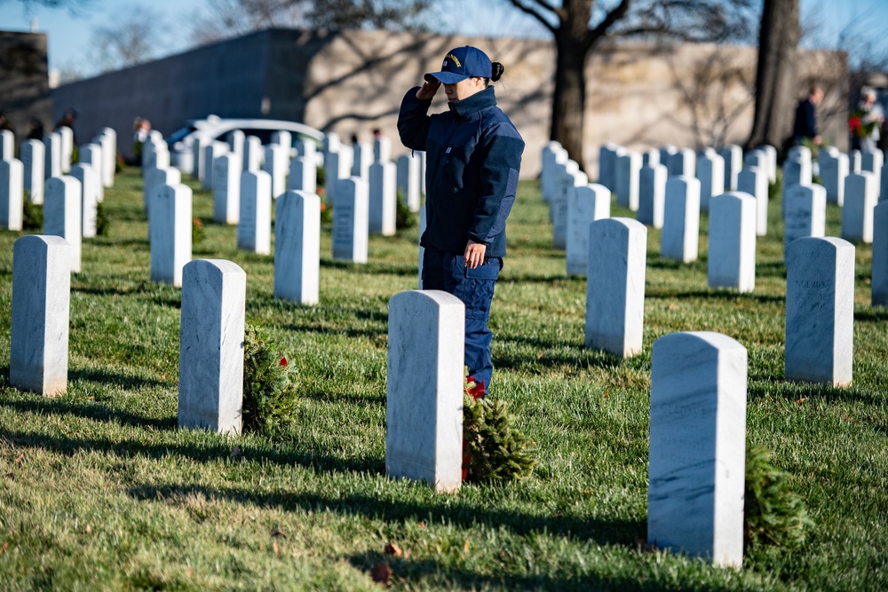
[[[3,402],[8,405],[8,402]],[[14,405],[14,404],[13,404]],[[136,415],[131,415],[137,418]],[[139,421],[137,426],[145,426],[155,420]],[[163,428],[174,428],[176,419],[156,420]],[[57,454],[76,454],[80,450],[91,450],[101,454],[114,454],[121,458],[144,457],[160,460],[170,455],[178,455],[194,462],[231,462],[234,441],[220,438],[205,438],[201,442],[181,443],[167,441],[163,443],[147,443],[139,438],[71,438],[68,436],[48,436],[32,432],[6,430],[0,427],[0,438],[10,441],[15,446],[40,448]],[[360,472],[370,475],[385,473],[385,459],[376,456],[338,458],[315,450],[294,450],[272,446],[257,446],[242,443],[242,460],[253,462],[271,462],[274,464],[298,465],[323,473]],[[293,445],[298,446],[298,443]]]

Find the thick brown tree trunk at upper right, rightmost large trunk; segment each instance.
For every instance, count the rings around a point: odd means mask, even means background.
[[[799,0],[765,0],[758,36],[756,112],[746,142],[781,150],[792,133],[798,89],[796,56]]]

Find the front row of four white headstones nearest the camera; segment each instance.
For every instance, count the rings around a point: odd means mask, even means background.
[[[53,236],[15,243],[16,388],[67,390],[68,249]],[[246,273],[230,261],[196,260],[183,275],[178,426],[238,433]],[[388,375],[399,379],[387,386],[386,475],[455,491],[462,478],[464,304],[440,291],[402,292],[392,297],[389,318]],[[648,539],[661,548],[716,564],[742,562],[746,374],[746,350],[725,335],[679,333],[654,343]]]

